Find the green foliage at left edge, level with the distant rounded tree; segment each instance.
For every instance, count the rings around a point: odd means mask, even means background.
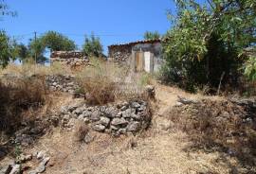
[[[0,31],[0,66],[5,67],[14,58],[12,43],[5,31]]]

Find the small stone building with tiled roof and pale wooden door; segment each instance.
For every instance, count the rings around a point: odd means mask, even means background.
[[[156,72],[161,64],[161,40],[146,40],[108,46],[109,61],[129,65],[135,72]]]

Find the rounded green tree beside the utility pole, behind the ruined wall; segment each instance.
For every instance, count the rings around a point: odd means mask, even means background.
[[[76,44],[56,31],[48,31],[40,38],[50,51],[71,51],[76,49]]]

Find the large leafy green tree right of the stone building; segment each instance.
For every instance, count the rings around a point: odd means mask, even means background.
[[[239,77],[243,60],[239,52],[255,43],[255,7],[252,0],[209,1],[200,5],[177,0],[177,15],[163,43],[165,66],[162,79],[189,91],[197,86],[216,88]]]

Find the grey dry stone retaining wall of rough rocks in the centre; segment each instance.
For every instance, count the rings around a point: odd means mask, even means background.
[[[92,130],[119,136],[146,129],[151,121],[148,103],[143,100],[121,102],[104,106],[73,104],[63,107],[59,117],[64,128],[70,130],[81,121]]]

